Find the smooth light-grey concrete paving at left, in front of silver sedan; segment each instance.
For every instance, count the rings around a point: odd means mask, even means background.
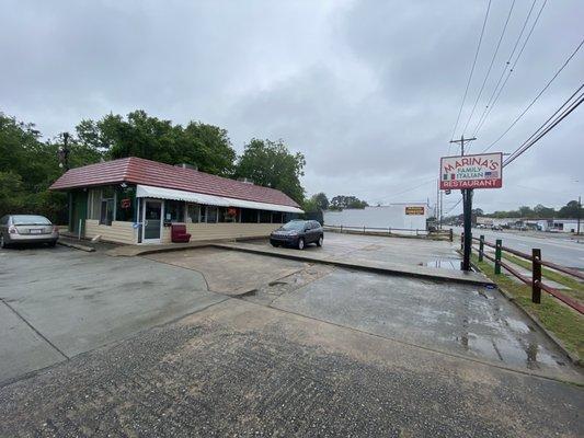
[[[0,250],[0,383],[222,299],[199,273],[148,260]]]

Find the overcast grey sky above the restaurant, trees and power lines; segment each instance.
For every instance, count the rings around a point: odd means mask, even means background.
[[[82,118],[142,108],[174,123],[219,125],[238,152],[252,137],[282,138],[307,158],[308,194],[433,204],[432,180],[449,152],[488,1],[0,4],[0,111],[35,123],[46,138],[71,131]],[[462,127],[511,4],[492,1]],[[466,135],[473,134],[531,4],[516,0]],[[548,1],[471,151],[496,139],[551,79],[584,37],[583,22],[582,0]],[[492,150],[514,150],[583,79],[584,48]],[[583,116],[579,107],[506,168],[504,188],[476,191],[476,207],[559,207],[584,195]],[[459,197],[445,197],[445,210]]]

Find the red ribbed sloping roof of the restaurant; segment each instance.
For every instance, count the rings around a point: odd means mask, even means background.
[[[137,157],[70,169],[49,189],[58,191],[119,184],[122,182],[299,207],[290,197],[275,188],[229,180],[193,169],[178,168]]]

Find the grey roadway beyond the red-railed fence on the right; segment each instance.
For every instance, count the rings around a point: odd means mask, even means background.
[[[461,231],[461,228],[455,229],[455,232],[458,234]],[[504,246],[525,253],[530,253],[533,247],[539,247],[543,260],[563,266],[584,269],[584,240],[581,241],[582,243],[577,243],[564,237],[549,235],[546,233],[535,235],[513,231],[479,230],[477,228],[472,229],[472,233],[474,237],[484,234],[484,238],[493,243],[496,239],[502,239]]]

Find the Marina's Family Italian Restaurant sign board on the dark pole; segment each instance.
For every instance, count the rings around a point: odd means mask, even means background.
[[[503,186],[503,153],[443,157],[440,189],[501,188]]]

